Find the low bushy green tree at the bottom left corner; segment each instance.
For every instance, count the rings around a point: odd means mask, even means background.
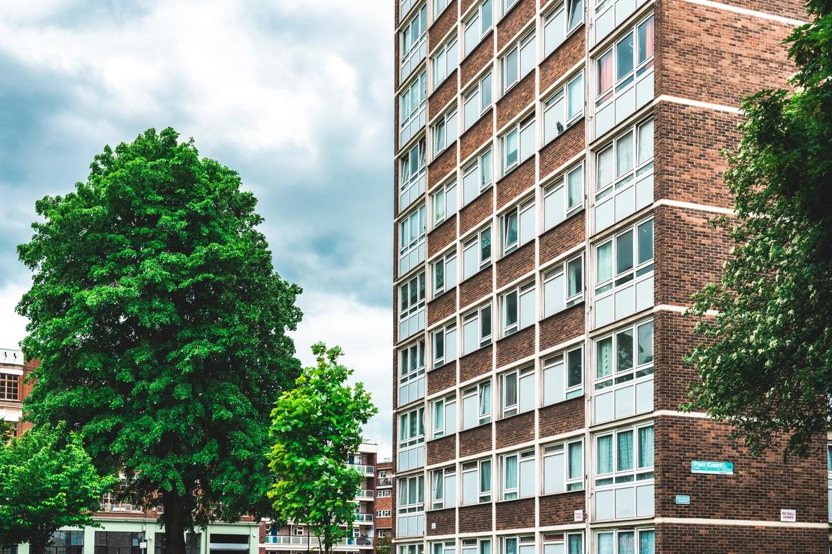
[[[60,527],[92,525],[102,494],[118,483],[96,473],[77,434],[62,444],[64,427],[0,443],[0,547],[28,542],[40,554]]]

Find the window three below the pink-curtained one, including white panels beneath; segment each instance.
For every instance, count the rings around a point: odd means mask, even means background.
[[[604,336],[595,349],[596,423],[651,411],[653,321]]]

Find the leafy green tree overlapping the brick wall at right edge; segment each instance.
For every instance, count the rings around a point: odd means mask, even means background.
[[[832,418],[832,2],[807,9],[786,39],[793,90],[742,104],[725,174],[736,217],[720,222],[735,247],[695,297],[706,341],[688,358],[701,383],[687,406],[734,424],[755,452],[785,434],[799,455]]]

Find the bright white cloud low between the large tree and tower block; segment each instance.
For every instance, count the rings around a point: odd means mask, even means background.
[[[393,320],[389,310],[364,306],[354,299],[328,294],[303,294],[299,301],[304,319],[293,334],[303,365],[313,365],[310,346],[324,341],[344,350],[343,363],[355,370],[354,380],[364,383],[379,413],[364,429],[365,439],[379,444],[379,457],[392,452],[393,375],[390,345]]]

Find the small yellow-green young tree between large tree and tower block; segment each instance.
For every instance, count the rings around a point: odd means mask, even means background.
[[[318,364],[303,370],[295,388],[280,395],[271,413],[275,439],[270,491],[280,521],[305,523],[326,554],[347,536],[362,475],[346,461],[361,444],[361,429],[378,411],[364,385],[346,385],[338,346],[312,346]]]

